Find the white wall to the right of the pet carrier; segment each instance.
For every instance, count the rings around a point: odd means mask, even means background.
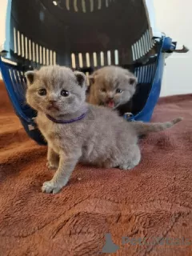
[[[158,29],[190,49],[166,59],[161,95],[192,93],[192,1],[154,0],[154,10]]]

